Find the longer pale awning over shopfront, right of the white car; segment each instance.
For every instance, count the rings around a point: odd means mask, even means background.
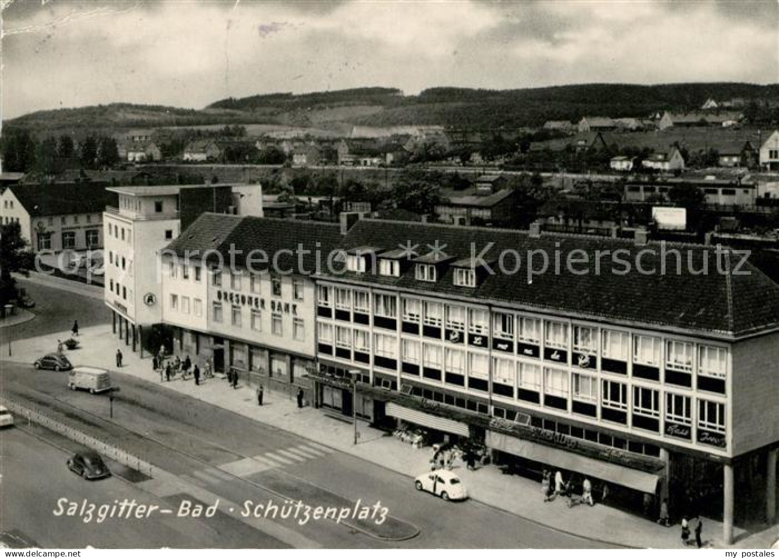
[[[513,436],[506,436],[492,430],[487,431],[487,446],[492,449],[505,451],[506,453],[518,455],[521,458],[541,461],[547,465],[560,467],[568,471],[580,473],[581,475],[592,476],[596,479],[607,480],[609,483],[619,484],[654,494],[657,488],[659,477],[650,472],[638,471],[598,461],[597,459],[587,458],[580,454],[570,451],[560,450],[556,447],[548,447],[543,444],[536,444],[529,440],[520,440]]]

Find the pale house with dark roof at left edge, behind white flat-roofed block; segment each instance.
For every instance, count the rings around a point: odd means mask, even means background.
[[[103,247],[105,184],[18,184],[0,194],[0,223],[19,223],[33,252]]]

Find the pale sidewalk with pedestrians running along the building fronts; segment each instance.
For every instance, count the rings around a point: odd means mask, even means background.
[[[11,358],[2,360],[32,363],[41,354],[54,351],[57,339],[69,337],[69,332],[24,339],[14,342]],[[83,349],[69,352],[74,364],[90,364],[115,370],[116,349],[122,349],[125,365],[119,370],[143,380],[160,384],[160,377],[151,370],[150,358],[139,359],[111,333],[110,325],[84,328],[79,340]],[[121,380],[120,380],[121,382]],[[215,378],[196,386],[194,381],[180,379],[160,384],[164,388],[199,398],[212,405],[230,409],[242,416],[256,419],[280,430],[298,434],[319,444],[334,447],[347,454],[371,461],[402,475],[414,477],[429,470],[429,448],[414,449],[397,438],[359,423],[360,438],[354,445],[354,426],[326,416],[321,410],[305,407],[298,409],[294,398],[266,391],[266,405],[256,403],[254,386],[241,385],[238,389],[227,387],[227,382]],[[461,463],[455,467],[463,479],[471,497],[484,504],[498,507],[511,514],[519,515],[540,525],[569,532],[587,539],[611,542],[624,546],[642,548],[682,548],[679,527],[664,528],[652,521],[636,517],[615,508],[566,507],[563,499],[545,504],[541,498],[541,486],[520,476],[503,475],[495,466],[488,465],[478,471],[468,471]],[[409,490],[414,490],[409,479]],[[721,541],[722,525],[704,518],[703,539],[708,546],[725,548]],[[735,548],[769,548],[779,538],[779,525],[763,532],[749,535],[735,529]]]

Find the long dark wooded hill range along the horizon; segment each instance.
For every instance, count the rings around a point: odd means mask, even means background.
[[[535,89],[434,87],[418,95],[364,87],[318,93],[273,93],[224,99],[201,110],[109,104],[38,111],[6,125],[61,128],[193,126],[214,124],[444,125],[479,128],[538,126],[547,120],[577,121],[584,115],[644,117],[654,111],[688,111],[707,99],[773,101],[779,84],[671,83],[654,86],[587,84]]]

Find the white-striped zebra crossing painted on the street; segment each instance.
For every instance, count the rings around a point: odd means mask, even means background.
[[[232,476],[247,477],[258,472],[267,471],[268,469],[298,465],[305,461],[324,457],[326,454],[333,453],[333,451],[335,450],[331,447],[316,444],[315,442],[307,442],[297,446],[266,451],[263,454],[258,454],[249,458],[241,458],[236,461],[218,465],[216,468],[195,471],[192,472],[192,475],[188,476],[187,479],[199,486],[206,486],[208,484],[220,483],[226,480],[229,481]]]

